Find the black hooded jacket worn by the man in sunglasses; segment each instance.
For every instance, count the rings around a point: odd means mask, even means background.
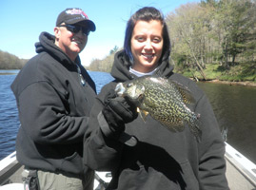
[[[75,63],[41,33],[36,56],[11,85],[21,126],[16,139],[19,162],[30,169],[83,178],[83,137],[95,100],[95,84],[77,57]],[[78,67],[86,81],[81,85]]]

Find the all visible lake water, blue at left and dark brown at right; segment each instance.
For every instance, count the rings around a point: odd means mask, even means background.
[[[0,160],[15,150],[19,128],[18,112],[10,84],[15,74],[0,70]],[[9,73],[17,73],[11,70]],[[112,80],[109,73],[89,71],[97,91]],[[207,93],[221,128],[227,128],[227,142],[256,163],[256,87],[198,83]]]

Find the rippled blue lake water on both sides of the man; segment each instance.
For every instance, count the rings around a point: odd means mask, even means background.
[[[19,70],[0,70],[0,160],[15,151],[15,139],[19,128],[16,100],[10,85]],[[113,78],[106,72],[89,72],[95,81],[97,92]]]

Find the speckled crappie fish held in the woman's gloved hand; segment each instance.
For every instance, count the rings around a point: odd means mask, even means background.
[[[187,123],[190,131],[200,141],[200,114],[187,107],[187,104],[195,100],[186,86],[162,77],[144,76],[118,83],[115,91],[136,104],[144,120],[149,113],[173,132],[183,131]]]

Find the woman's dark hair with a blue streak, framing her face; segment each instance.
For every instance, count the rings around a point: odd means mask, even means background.
[[[138,21],[151,21],[151,20],[157,20],[160,21],[163,25],[163,39],[164,39],[164,45],[163,45],[163,52],[161,56],[161,60],[163,58],[163,55],[170,50],[170,41],[167,31],[167,24],[165,22],[163,14],[152,7],[145,7],[140,10],[137,10],[128,20],[127,29],[126,29],[126,37],[124,42],[124,49],[125,52],[129,58],[129,60],[132,62],[133,57],[130,49],[130,39],[132,35],[132,31],[134,26]]]

